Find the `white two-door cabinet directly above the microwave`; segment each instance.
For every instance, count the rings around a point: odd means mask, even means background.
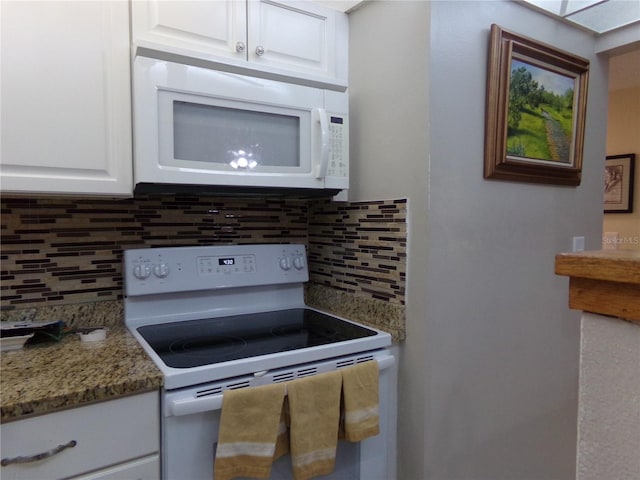
[[[347,16],[308,0],[134,0],[132,32],[142,53],[347,86]]]

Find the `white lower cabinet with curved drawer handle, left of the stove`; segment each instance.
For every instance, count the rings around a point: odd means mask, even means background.
[[[2,424],[0,477],[157,480],[159,405],[155,391]]]

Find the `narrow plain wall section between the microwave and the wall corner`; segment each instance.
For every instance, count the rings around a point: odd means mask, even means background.
[[[398,406],[398,478],[406,480],[424,478],[428,25],[429,3],[415,1],[367,2],[349,21],[349,196],[408,198],[409,321]]]

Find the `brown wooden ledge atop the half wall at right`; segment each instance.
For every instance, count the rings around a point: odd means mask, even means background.
[[[571,308],[640,324],[640,252],[562,253],[556,256],[555,272],[570,277]]]

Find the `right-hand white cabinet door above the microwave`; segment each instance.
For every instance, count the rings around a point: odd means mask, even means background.
[[[250,61],[346,82],[343,13],[308,1],[249,0],[248,7]]]

